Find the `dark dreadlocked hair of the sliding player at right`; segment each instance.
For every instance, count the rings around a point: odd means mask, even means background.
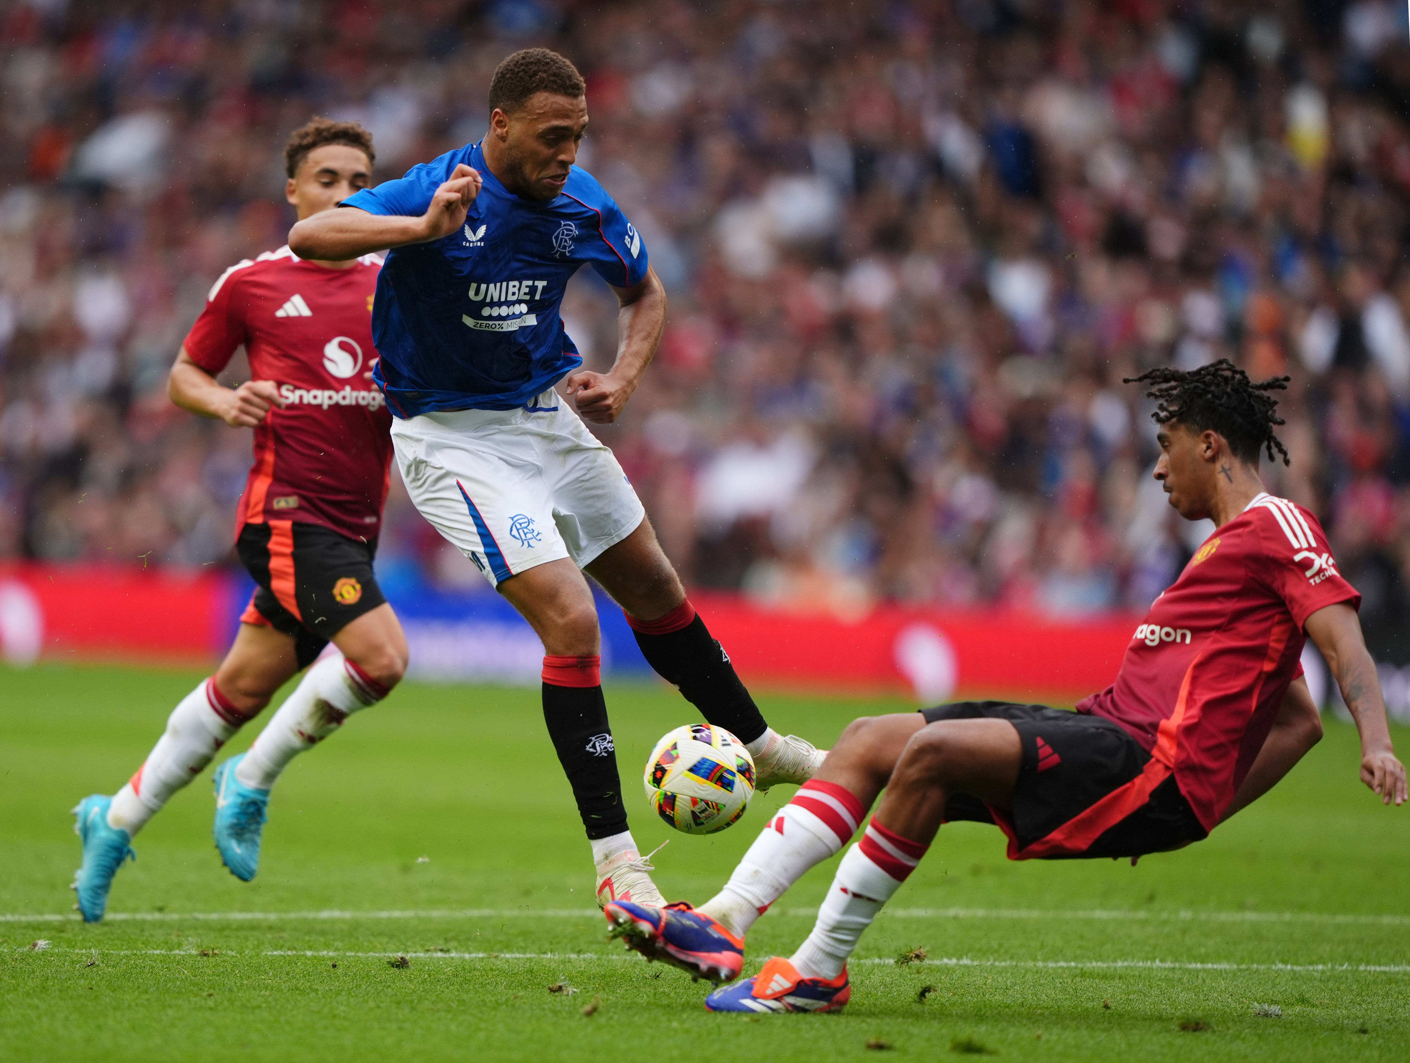
[[[1234,457],[1249,465],[1258,464],[1263,447],[1268,447],[1268,460],[1276,461],[1276,447],[1283,464],[1289,465],[1287,448],[1273,434],[1273,426],[1285,422],[1277,416],[1277,399],[1268,392],[1287,391],[1290,379],[1273,376],[1253,383],[1234,362],[1220,358],[1190,371],[1148,369],[1139,376],[1127,376],[1124,383],[1151,385],[1146,398],[1156,400],[1151,414],[1156,424],[1173,420],[1196,431],[1217,431],[1228,440]]]

